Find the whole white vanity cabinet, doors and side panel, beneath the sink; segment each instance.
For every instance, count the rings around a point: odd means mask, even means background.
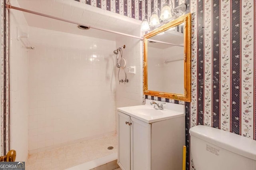
[[[126,108],[118,108],[118,165],[122,170],[181,170],[185,114],[147,120]]]

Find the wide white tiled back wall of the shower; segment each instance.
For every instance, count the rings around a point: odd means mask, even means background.
[[[29,32],[29,152],[115,131],[116,43]]]

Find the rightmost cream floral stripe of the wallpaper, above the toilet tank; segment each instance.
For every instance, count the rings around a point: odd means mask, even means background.
[[[255,3],[255,1],[253,1]],[[241,134],[255,139],[255,4],[242,1]],[[254,29],[253,29],[254,28]],[[254,41],[253,41],[254,40]],[[254,71],[254,73],[253,73]]]

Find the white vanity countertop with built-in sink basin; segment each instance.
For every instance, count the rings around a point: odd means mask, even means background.
[[[148,105],[152,100],[146,99],[146,105],[138,105],[138,106],[130,106],[130,107],[119,107],[118,111],[144,121],[146,123],[154,123],[158,121],[164,121],[167,119],[173,119],[176,117],[185,116],[185,106],[174,104],[174,103],[166,103],[164,110],[154,109],[153,105]],[[164,103],[161,101],[155,101],[156,103]],[[151,110],[153,109],[153,110]],[[152,114],[148,115],[146,112],[150,111]]]

